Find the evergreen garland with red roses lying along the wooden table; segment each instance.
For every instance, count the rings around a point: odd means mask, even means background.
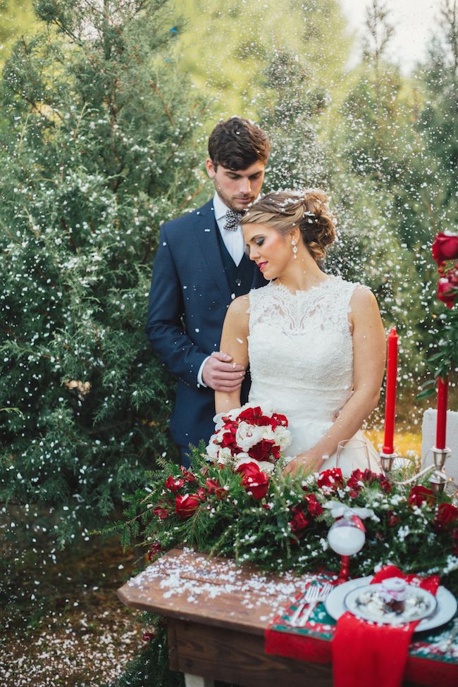
[[[166,551],[185,543],[262,569],[304,574],[311,567],[332,570],[336,566],[335,553],[326,539],[333,516],[323,510],[323,505],[338,500],[373,512],[364,521],[366,545],[352,558],[354,576],[371,574],[390,563],[406,572],[438,573],[448,588],[458,590],[454,540],[458,519],[449,528],[438,526],[438,505],[434,501],[421,507],[411,505],[410,485],[390,487],[380,475],[368,477],[357,471],[356,480],[342,482],[338,490],[326,491],[316,474],[305,479],[284,478],[277,464],[265,499],[256,500],[242,486],[240,475],[228,465],[209,464],[202,450],[193,451],[191,470],[183,476],[178,466],[166,464],[151,474],[147,490],[130,500],[125,522],[118,528],[131,533],[134,524],[140,523],[144,547],[159,544]],[[178,488],[166,487],[168,476],[178,481]],[[219,490],[214,489],[214,483]],[[192,513],[183,514],[176,499],[186,494],[200,494],[200,502]],[[314,495],[317,509],[308,505],[308,495]],[[450,504],[450,498],[444,495],[440,502]],[[307,518],[307,525],[300,531],[292,524],[298,509]],[[458,515],[458,509],[455,511]]]

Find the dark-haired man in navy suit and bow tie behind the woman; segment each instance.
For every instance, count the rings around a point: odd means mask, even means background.
[[[245,254],[240,217],[261,191],[270,152],[266,132],[240,117],[219,122],[209,138],[206,171],[215,194],[201,208],[161,227],[149,294],[147,335],[178,378],[171,433],[182,463],[188,445],[214,431],[213,392],[248,380],[219,350],[231,300],[266,282]]]

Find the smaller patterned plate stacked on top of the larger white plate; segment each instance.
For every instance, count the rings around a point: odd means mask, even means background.
[[[357,587],[352,589],[345,596],[344,606],[350,613],[362,618],[363,620],[369,620],[375,623],[383,623],[387,625],[403,625],[413,621],[419,621],[423,618],[428,618],[431,616],[438,607],[438,601],[433,594],[422,589],[421,587],[415,587],[413,585],[407,585],[407,608],[408,612],[395,614],[393,612],[383,612],[383,602],[378,602],[377,611],[365,606],[361,603],[361,597],[369,593],[369,597],[375,596],[375,600],[380,599],[377,591],[382,587],[381,584],[365,584],[364,587]],[[422,607],[416,604],[416,600],[421,599]],[[414,602],[411,606],[410,600]],[[377,606],[377,603],[376,603]]]

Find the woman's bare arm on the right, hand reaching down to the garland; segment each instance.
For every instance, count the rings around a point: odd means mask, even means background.
[[[338,443],[350,439],[377,406],[385,371],[385,332],[374,295],[357,289],[349,316],[353,327],[353,394],[333,426],[318,443],[287,464],[285,474],[298,469],[320,470],[323,455],[332,455]],[[326,466],[325,466],[326,467]]]

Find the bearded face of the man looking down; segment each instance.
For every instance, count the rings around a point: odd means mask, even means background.
[[[206,160],[206,171],[213,180],[216,192],[230,209],[242,212],[259,196],[264,181],[266,163],[254,162],[247,169],[233,170]]]

